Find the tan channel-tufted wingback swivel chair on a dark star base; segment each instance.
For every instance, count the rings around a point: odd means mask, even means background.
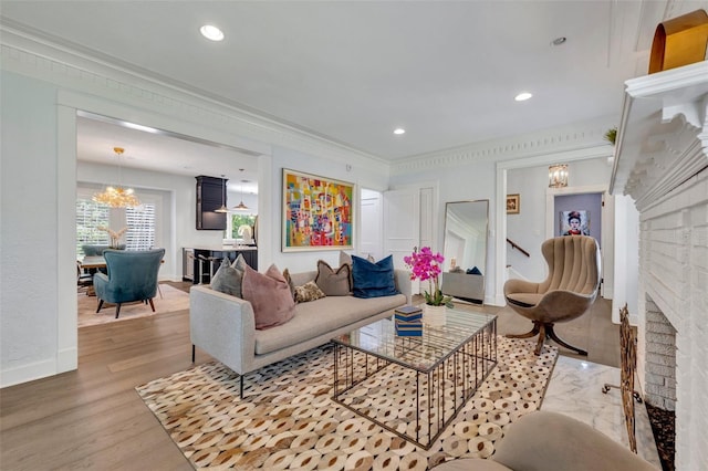
[[[529,338],[538,334],[537,355],[541,353],[545,337],[580,355],[587,355],[561,339],[553,325],[580,317],[595,301],[601,276],[597,241],[587,236],[558,237],[543,242],[541,252],[549,265],[545,281],[509,280],[504,283],[507,305],[533,322],[530,332],[507,337]]]

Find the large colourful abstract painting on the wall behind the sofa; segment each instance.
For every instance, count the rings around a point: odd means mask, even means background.
[[[282,251],[353,249],[354,184],[283,168]]]

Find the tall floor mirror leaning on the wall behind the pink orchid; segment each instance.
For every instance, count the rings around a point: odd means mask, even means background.
[[[488,211],[486,199],[446,205],[444,294],[476,304],[485,302]]]

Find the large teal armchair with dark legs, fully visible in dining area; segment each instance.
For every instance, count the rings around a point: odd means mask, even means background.
[[[103,257],[106,260],[108,274],[96,273],[93,276],[93,285],[98,299],[98,308],[103,303],[114,303],[115,318],[121,314],[121,305],[132,301],[143,301],[150,304],[153,312],[155,305],[153,297],[157,293],[157,272],[165,257],[165,249],[126,251],[105,250]]]

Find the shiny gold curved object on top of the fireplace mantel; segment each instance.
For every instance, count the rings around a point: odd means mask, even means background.
[[[706,60],[708,13],[696,10],[656,27],[649,73],[680,67]]]

